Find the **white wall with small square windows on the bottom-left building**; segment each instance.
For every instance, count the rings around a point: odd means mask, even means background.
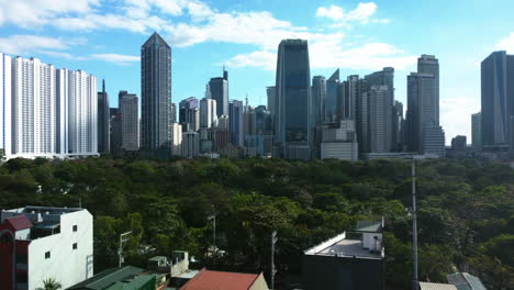
[[[77,232],[72,226],[77,225]],[[77,243],[77,249],[72,244]],[[45,253],[51,258],[45,259]],[[43,287],[43,280],[54,278],[63,289],[93,275],[93,223],[87,211],[60,215],[60,234],[34,239],[29,245],[29,290]]]

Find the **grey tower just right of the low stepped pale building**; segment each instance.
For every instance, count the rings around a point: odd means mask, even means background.
[[[371,153],[391,152],[392,107],[391,93],[384,85],[372,85],[367,93],[368,104],[368,150]]]

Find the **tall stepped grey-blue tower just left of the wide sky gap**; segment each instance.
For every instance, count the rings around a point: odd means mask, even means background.
[[[422,55],[418,70],[407,76],[409,149],[445,155],[445,133],[439,126],[439,65],[434,56]]]

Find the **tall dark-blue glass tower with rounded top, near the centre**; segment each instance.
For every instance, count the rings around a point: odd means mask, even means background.
[[[311,72],[304,40],[283,40],[278,47],[276,142],[279,155],[311,158]]]

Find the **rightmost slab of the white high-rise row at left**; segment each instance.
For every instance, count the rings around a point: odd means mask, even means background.
[[[97,78],[69,70],[69,146],[74,155],[98,154]]]

